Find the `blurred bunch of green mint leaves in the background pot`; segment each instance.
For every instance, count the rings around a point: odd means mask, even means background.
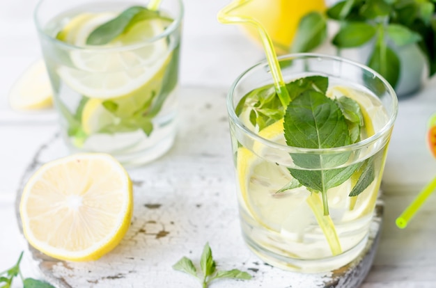
[[[392,49],[416,43],[428,62],[428,77],[436,73],[435,0],[343,0],[324,15],[312,12],[299,22],[291,52],[315,49],[327,39],[327,20],[340,29],[332,44],[338,49],[371,43],[366,65],[379,72],[394,88],[400,75],[400,58]]]

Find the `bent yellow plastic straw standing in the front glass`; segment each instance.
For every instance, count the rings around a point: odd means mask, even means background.
[[[283,81],[283,75],[281,74],[279,61],[277,60],[277,54],[274,51],[272,40],[267,34],[267,31],[262,26],[262,24],[260,24],[260,22],[258,22],[253,17],[249,17],[247,15],[230,15],[233,10],[243,6],[249,1],[251,0],[235,0],[232,3],[228,4],[228,6],[222,8],[219,11],[217,15],[218,21],[223,24],[247,23],[256,26],[256,29],[260,34],[260,40],[262,41],[263,48],[265,49],[268,65],[270,65],[275,90],[277,92],[277,95],[279,95],[281,104],[283,105],[283,107],[286,107],[290,102],[290,97],[288,94],[288,90],[286,90],[285,82]]]

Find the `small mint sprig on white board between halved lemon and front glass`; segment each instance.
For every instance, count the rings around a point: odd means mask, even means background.
[[[212,250],[209,243],[206,243],[203,248],[200,260],[201,275],[198,275],[197,269],[191,259],[182,257],[176,264],[173,265],[173,269],[187,273],[194,276],[201,282],[201,287],[206,288],[210,282],[219,279],[240,279],[250,280],[251,275],[247,272],[240,271],[238,269],[232,269],[229,271],[217,271],[217,264],[212,256]]]

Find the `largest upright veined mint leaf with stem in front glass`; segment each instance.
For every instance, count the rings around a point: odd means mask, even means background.
[[[312,149],[342,147],[350,144],[347,122],[338,105],[316,90],[306,90],[286,109],[283,122],[286,143]],[[327,190],[349,179],[355,166],[328,169],[345,163],[349,153],[292,154],[295,165],[314,170],[288,168],[299,183],[322,193],[324,214],[329,214]],[[315,170],[316,169],[316,170]]]

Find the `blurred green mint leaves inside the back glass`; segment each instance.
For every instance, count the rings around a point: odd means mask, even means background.
[[[132,29],[132,27],[139,22],[152,19],[160,19],[168,25],[173,22],[173,19],[163,15],[158,10],[150,10],[143,6],[132,6],[123,10],[123,12],[114,17],[114,19],[111,19],[95,28],[88,35],[86,45],[107,45],[120,35],[128,33],[130,29]],[[61,31],[58,33],[57,38],[61,40],[62,37]],[[162,78],[162,87],[157,91],[151,91],[151,95],[149,97],[150,101],[147,101],[142,106],[138,106],[136,109],[133,109],[130,116],[120,116],[120,114],[124,113],[118,112],[118,110],[120,110],[120,105],[123,105],[123,100],[117,101],[116,99],[107,99],[102,102],[104,109],[114,115],[114,119],[118,120],[105,127],[102,127],[100,131],[97,132],[104,134],[115,134],[141,129],[144,134],[150,136],[154,129],[153,118],[159,113],[166,98],[177,86],[179,51],[180,45],[178,44],[176,47],[174,47],[171,60],[166,66],[166,70]],[[78,146],[83,145],[84,141],[86,141],[86,138],[88,137],[81,126],[81,116],[86,102],[88,102],[88,99],[90,99],[89,97],[92,97],[92,95],[82,96],[81,102],[79,103],[75,113],[72,113],[61,101],[56,103],[63,117],[68,122],[68,136],[74,137],[75,143]],[[148,95],[144,95],[143,97],[146,98]]]

